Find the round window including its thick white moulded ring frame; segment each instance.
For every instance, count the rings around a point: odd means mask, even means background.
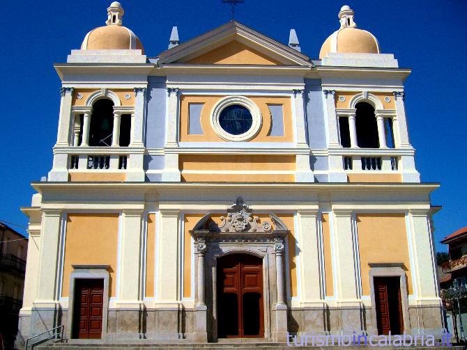
[[[211,113],[211,125],[227,141],[247,141],[261,128],[261,111],[247,97],[228,96],[218,102]]]

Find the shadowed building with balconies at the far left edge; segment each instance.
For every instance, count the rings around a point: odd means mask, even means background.
[[[0,223],[0,339],[13,347],[22,306],[28,239]]]

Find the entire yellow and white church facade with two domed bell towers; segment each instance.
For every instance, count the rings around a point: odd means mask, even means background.
[[[349,6],[317,59],[235,21],[146,56],[107,11],[55,65],[18,343],[442,332],[411,70]]]

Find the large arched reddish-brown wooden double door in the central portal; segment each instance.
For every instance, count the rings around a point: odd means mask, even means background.
[[[217,260],[217,337],[264,337],[260,257],[231,254]]]

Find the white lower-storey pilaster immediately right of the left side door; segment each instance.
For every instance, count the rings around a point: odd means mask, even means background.
[[[118,304],[139,303],[142,210],[124,210],[121,221]]]

